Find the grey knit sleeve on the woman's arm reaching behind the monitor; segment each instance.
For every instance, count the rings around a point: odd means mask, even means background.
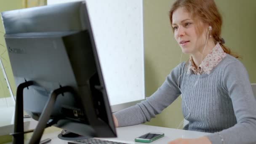
[[[128,107],[121,111],[115,112],[119,127],[128,125],[137,125],[150,121],[152,117],[160,114],[163,109],[168,107],[181,94],[178,88],[178,77],[181,75],[181,66],[175,67],[166,77],[164,83],[146,100],[141,101],[132,107]],[[182,67],[183,67],[182,66]],[[180,80],[179,80],[180,81]]]

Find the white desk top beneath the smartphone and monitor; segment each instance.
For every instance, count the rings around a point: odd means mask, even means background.
[[[67,141],[61,140],[57,135],[61,131],[47,133],[43,135],[42,139],[50,138],[52,139],[48,144],[67,144]],[[153,141],[151,144],[167,144],[168,141],[172,141],[177,138],[198,138],[205,136],[209,133],[195,132],[195,131],[185,131],[173,128],[163,128],[150,125],[133,125],[128,127],[117,128],[117,138],[104,138],[105,140],[126,142],[129,144],[143,144],[139,142],[134,142],[134,138],[141,136],[148,132],[161,132],[165,133],[165,136],[161,139]]]

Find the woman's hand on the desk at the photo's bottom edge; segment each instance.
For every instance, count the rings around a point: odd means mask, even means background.
[[[198,139],[175,139],[168,144],[211,144],[211,141],[206,136],[203,136]]]

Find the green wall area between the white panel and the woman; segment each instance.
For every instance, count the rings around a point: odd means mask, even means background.
[[[150,96],[162,85],[165,77],[180,62],[181,49],[176,43],[168,19],[170,0],[144,0],[145,89]],[[183,60],[188,56],[183,55]],[[148,125],[178,127],[182,120],[178,98]]]

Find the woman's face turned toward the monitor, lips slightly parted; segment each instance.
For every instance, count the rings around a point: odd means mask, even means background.
[[[183,53],[201,53],[205,42],[205,31],[203,35],[196,32],[196,24],[185,8],[178,8],[172,15],[175,40],[179,43]]]

